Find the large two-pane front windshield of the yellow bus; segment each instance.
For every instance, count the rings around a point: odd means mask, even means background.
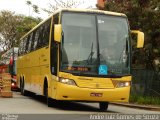
[[[90,76],[130,74],[125,17],[64,12],[62,29],[61,71]]]

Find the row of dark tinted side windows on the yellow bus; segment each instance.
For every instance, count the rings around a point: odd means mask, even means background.
[[[49,44],[50,26],[51,19],[23,38],[19,45],[19,55],[47,46]]]

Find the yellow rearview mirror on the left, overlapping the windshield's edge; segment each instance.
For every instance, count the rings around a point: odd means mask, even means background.
[[[54,25],[54,40],[56,42],[61,42],[62,37],[62,25],[61,24],[55,24]]]

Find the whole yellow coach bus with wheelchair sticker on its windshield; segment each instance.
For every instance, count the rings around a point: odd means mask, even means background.
[[[142,47],[144,34],[137,34]],[[21,94],[54,101],[128,102],[131,36],[126,15],[61,9],[21,38],[17,79]]]

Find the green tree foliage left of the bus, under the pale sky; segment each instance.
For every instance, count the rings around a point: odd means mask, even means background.
[[[41,19],[16,15],[11,11],[0,12],[0,44],[3,51],[17,46],[20,38],[37,25]]]

